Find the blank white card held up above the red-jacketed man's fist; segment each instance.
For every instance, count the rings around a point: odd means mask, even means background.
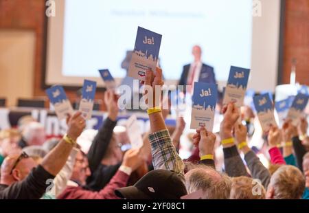
[[[136,115],[131,115],[126,121],[126,131],[128,133],[131,148],[141,148],[144,143]]]

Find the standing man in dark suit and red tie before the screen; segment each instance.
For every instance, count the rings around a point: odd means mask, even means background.
[[[183,66],[183,73],[179,80],[179,85],[191,85],[192,91],[194,82],[207,82],[216,84],[216,76],[214,74],[214,67],[205,65],[201,61],[202,49],[200,46],[195,45],[192,48],[192,55],[194,62],[189,65]],[[191,92],[191,91],[188,91]]]

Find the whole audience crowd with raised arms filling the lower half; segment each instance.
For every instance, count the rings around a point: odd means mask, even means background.
[[[145,85],[162,86],[162,71],[147,71]],[[117,99],[106,91],[107,116],[89,150],[78,144],[85,128],[80,112],[67,117],[62,139],[45,139],[41,124],[23,117],[16,129],[0,133],[0,199],[181,199],[199,192],[202,199],[309,199],[308,122],[286,120],[271,126],[262,138],[268,148],[266,168],[256,150],[240,109],[222,107],[220,131],[201,127],[192,135],[192,156],[181,159],[181,117],[170,132],[161,102],[148,106],[150,130],[139,149],[124,152],[115,133]],[[154,97],[155,92],[148,96]],[[216,142],[220,142],[217,144]],[[215,148],[223,151],[224,169],[216,169]]]

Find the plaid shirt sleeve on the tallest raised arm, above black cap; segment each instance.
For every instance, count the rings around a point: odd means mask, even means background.
[[[148,137],[152,150],[152,164],[155,170],[164,169],[176,172],[184,180],[185,165],[172,144],[168,130],[150,133]]]

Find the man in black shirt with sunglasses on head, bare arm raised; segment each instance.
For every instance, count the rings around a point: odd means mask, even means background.
[[[49,179],[54,179],[65,165],[76,139],[85,127],[80,112],[68,117],[67,135],[49,152],[42,163],[27,154],[5,158],[1,166],[0,199],[39,199],[46,192]]]

